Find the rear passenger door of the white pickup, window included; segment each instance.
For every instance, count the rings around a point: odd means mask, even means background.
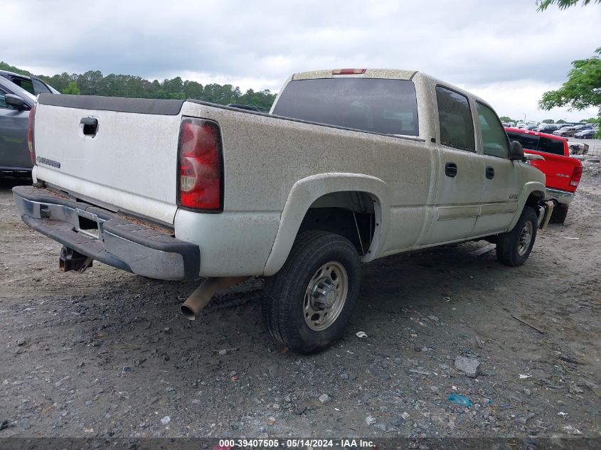
[[[440,171],[432,226],[424,245],[467,237],[479,215],[484,162],[476,153],[474,119],[467,97],[435,87]]]

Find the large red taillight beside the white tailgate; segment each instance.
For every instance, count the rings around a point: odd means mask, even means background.
[[[223,161],[216,122],[181,121],[179,205],[195,210],[223,210]]]

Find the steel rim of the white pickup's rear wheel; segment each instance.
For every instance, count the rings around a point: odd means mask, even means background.
[[[349,275],[339,262],[323,264],[304,293],[303,316],[313,331],[324,331],[336,321],[349,293]]]

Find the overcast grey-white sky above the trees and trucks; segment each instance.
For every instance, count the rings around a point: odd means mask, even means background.
[[[90,6],[86,6],[90,5]],[[535,0],[3,0],[0,59],[33,73],[181,76],[277,92],[321,68],[422,70],[515,119],[538,110],[570,62],[601,45],[601,6],[536,11]]]

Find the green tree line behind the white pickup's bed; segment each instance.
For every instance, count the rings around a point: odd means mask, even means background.
[[[4,62],[0,62],[0,69],[32,75],[26,70],[18,69]],[[150,81],[136,75],[115,75],[114,73],[102,75],[100,70],[88,70],[82,74],[63,72],[60,75],[36,76],[63,94],[194,99],[219,105],[238,103],[265,109],[269,109],[275,100],[275,94],[268,89],[260,91],[249,89],[243,93],[238,86],[218,85],[217,83],[202,85],[196,81],[182,80],[181,77]]]

